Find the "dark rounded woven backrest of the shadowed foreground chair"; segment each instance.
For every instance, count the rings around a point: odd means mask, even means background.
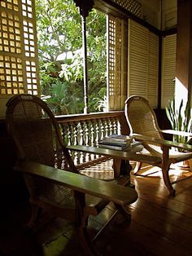
[[[6,119],[19,158],[58,168],[65,157],[69,165],[73,163],[64,147],[55,116],[37,96],[12,97],[7,102]],[[70,167],[73,169],[73,165]]]

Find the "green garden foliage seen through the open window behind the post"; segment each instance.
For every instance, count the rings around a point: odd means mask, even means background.
[[[36,0],[36,15],[43,99],[55,114],[83,113],[82,36],[78,8],[73,0]],[[106,15],[91,11],[87,17],[89,112],[97,111],[93,99],[102,99],[100,90],[106,88],[106,31]],[[65,57],[58,58],[64,54]]]

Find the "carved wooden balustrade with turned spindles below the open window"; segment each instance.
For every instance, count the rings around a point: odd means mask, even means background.
[[[56,117],[62,129],[63,141],[68,145],[98,146],[98,141],[112,134],[129,134],[123,111],[90,113]],[[106,157],[85,152],[72,152],[78,166],[87,166]]]

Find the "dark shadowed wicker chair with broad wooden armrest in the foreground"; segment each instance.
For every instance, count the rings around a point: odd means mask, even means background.
[[[40,209],[48,210],[76,223],[85,253],[94,254],[86,230],[89,215],[96,216],[113,201],[129,220],[126,205],[137,200],[137,192],[78,174],[54,115],[36,96],[12,97],[7,102],[6,119],[19,157],[15,170],[24,174],[33,205],[28,227],[33,227]]]

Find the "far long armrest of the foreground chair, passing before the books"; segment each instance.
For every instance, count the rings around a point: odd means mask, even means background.
[[[160,157],[147,156],[141,153],[126,152],[126,151],[114,150],[114,149],[108,149],[108,148],[97,148],[97,147],[89,147],[89,146],[83,146],[83,145],[72,145],[72,146],[67,146],[67,148],[69,150],[89,152],[89,153],[108,156],[116,159],[143,161],[148,164],[155,164],[155,163],[157,164],[161,162]]]

